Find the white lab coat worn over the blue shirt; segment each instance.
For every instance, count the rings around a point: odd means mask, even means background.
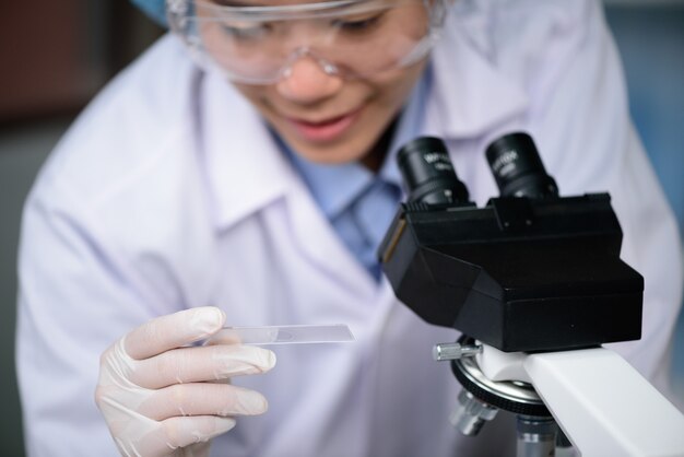
[[[433,55],[421,131],[447,141],[479,204],[497,194],[484,148],[511,129],[532,133],[562,195],[611,192],[623,258],[646,277],[644,338],[616,349],[663,388],[681,249],[627,117],[600,4],[457,8]],[[20,274],[31,456],[116,455],[93,401],[99,354],[153,317],[201,305],[220,306],[231,325],[344,323],[356,337],[278,348],[271,373],[236,379],[270,410],[240,419],[213,455],[510,453],[511,427],[491,424],[473,440],[447,421],[459,386],[431,348],[456,330],[424,324],[375,283],[256,112],[174,37],[113,81],[49,159],[26,204]]]

